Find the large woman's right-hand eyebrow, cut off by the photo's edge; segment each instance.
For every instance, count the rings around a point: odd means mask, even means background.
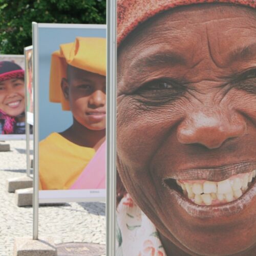
[[[230,52],[229,61],[239,61],[254,58],[256,60],[256,42],[247,46],[239,46]]]

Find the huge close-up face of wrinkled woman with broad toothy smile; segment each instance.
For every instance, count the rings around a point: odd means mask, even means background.
[[[119,48],[118,172],[189,254],[255,252],[255,38],[254,10],[207,4],[162,13]]]

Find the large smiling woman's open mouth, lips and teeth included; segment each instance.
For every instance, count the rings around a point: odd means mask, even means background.
[[[229,216],[243,210],[256,196],[255,169],[255,162],[189,169],[163,181],[189,215],[198,218]]]

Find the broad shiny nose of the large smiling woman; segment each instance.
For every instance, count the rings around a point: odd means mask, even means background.
[[[218,148],[230,138],[246,134],[246,121],[236,112],[198,111],[187,116],[178,126],[177,138],[183,144],[201,144]]]

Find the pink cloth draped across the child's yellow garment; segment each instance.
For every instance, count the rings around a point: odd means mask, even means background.
[[[95,156],[83,169],[70,189],[106,188],[106,142],[98,148]]]

